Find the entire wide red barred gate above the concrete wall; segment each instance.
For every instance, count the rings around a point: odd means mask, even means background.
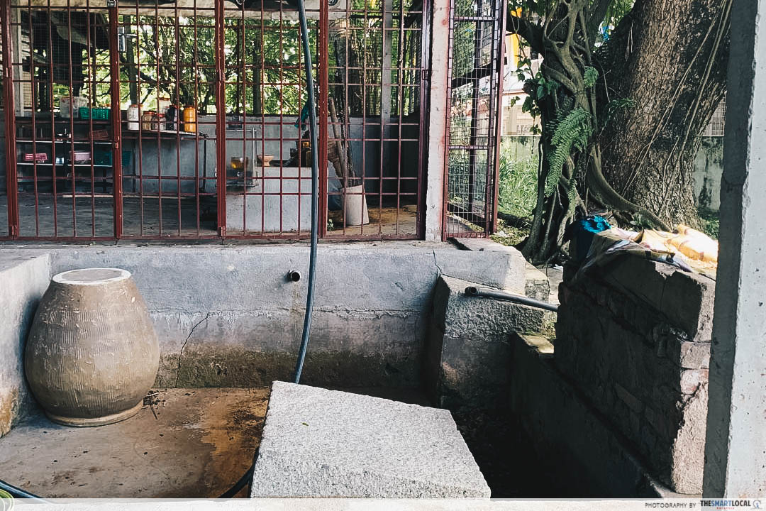
[[[2,0],[0,239],[422,237],[427,4],[306,3],[317,148],[292,2]]]

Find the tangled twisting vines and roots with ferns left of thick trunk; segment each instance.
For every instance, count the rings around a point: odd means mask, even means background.
[[[599,136],[634,102],[610,100],[595,51],[632,8],[633,0],[509,0],[509,31],[525,41],[529,54],[543,57],[538,69],[530,58],[520,59],[518,71],[519,79],[525,77],[523,110],[542,121],[544,157],[532,226],[522,247],[535,264],[560,254],[566,228],[588,207],[664,226],[651,211],[617,193],[602,172]]]

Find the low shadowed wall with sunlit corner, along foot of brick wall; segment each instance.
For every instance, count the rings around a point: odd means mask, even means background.
[[[624,436],[558,370],[545,338],[509,339],[512,375],[509,432],[521,431],[521,449],[544,478],[545,492],[564,498],[668,496],[649,475]]]

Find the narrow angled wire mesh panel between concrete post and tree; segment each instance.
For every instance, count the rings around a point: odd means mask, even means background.
[[[487,236],[496,221],[503,0],[452,0],[444,237]]]

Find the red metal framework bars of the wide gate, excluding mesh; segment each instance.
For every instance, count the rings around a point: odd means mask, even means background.
[[[29,236],[19,233],[20,218],[19,218],[19,201],[18,201],[18,167],[16,165],[16,105],[15,105],[15,87],[17,82],[14,79],[14,38],[11,32],[11,0],[0,0],[0,28],[2,28],[2,73],[3,80],[5,81],[5,87],[3,88],[3,100],[5,109],[5,163],[6,163],[6,187],[8,195],[8,236],[0,235],[0,241],[14,240],[14,241],[119,241],[119,240],[147,240],[147,239],[161,239],[163,241],[188,241],[189,239],[304,239],[308,237],[307,231],[298,231],[295,234],[281,234],[273,235],[268,232],[255,232],[245,234],[232,234],[226,231],[226,185],[227,175],[226,172],[218,172],[217,175],[217,226],[218,232],[216,235],[201,236],[199,234],[192,236],[172,236],[172,237],[157,237],[152,235],[129,235],[123,232],[123,175],[122,175],[122,149],[123,149],[123,136],[122,136],[122,112],[120,107],[120,61],[119,52],[116,48],[119,45],[119,14],[124,10],[124,6],[119,6],[119,2],[114,0],[108,0],[106,2],[106,10],[109,12],[109,40],[110,40],[110,86],[111,86],[111,127],[112,127],[112,151],[113,151],[113,236],[97,236],[95,232],[93,235],[77,235],[77,231],[74,231],[72,236],[58,236],[54,231],[54,236]],[[423,26],[421,35],[421,77],[419,79],[420,87],[420,134],[422,137],[427,137],[428,126],[428,94],[427,84],[430,79],[430,60],[427,57],[430,55],[430,0],[424,0],[422,2],[421,10],[423,11]],[[14,6],[15,7],[15,6]],[[26,8],[27,5],[22,5]],[[32,6],[29,5],[31,8]],[[42,5],[39,8],[45,8]],[[47,8],[51,9],[51,3],[48,2]],[[86,5],[80,8],[82,11],[87,11],[89,8],[95,8],[91,5]],[[70,8],[67,5],[67,9]],[[103,10],[102,7],[99,7]],[[214,55],[215,55],[215,67],[218,77],[218,83],[216,84],[216,163],[218,169],[226,168],[226,149],[225,149],[225,128],[227,126],[226,111],[224,102],[225,97],[225,83],[224,83],[224,11],[231,11],[231,8],[224,8],[224,0],[215,0],[214,2],[214,18],[215,18],[215,35],[214,35]],[[319,108],[318,108],[318,120],[319,120],[319,226],[320,235],[326,236],[327,234],[327,152],[328,152],[328,83],[329,83],[329,50],[328,50],[328,38],[329,38],[329,5],[328,2],[319,2],[319,26],[318,26],[318,41],[319,46],[322,48],[319,50]],[[70,21],[71,23],[71,21]],[[71,30],[71,28],[70,28]],[[90,32],[89,32],[90,34]],[[71,55],[70,55],[70,67],[71,67]],[[53,78],[51,77],[51,80]],[[51,81],[52,83],[52,81]],[[400,85],[401,87],[401,85]],[[366,114],[365,114],[366,115]],[[400,112],[401,115],[401,112]],[[34,116],[33,116],[34,118]],[[401,124],[401,120],[399,121]],[[34,120],[32,121],[34,124]],[[398,138],[401,144],[401,131],[398,133]],[[34,139],[34,136],[33,136]],[[91,142],[93,138],[91,138]],[[74,147],[74,146],[73,146]],[[74,150],[74,149],[73,149]],[[382,148],[381,148],[382,152]],[[400,156],[401,158],[401,156]],[[427,169],[427,143],[421,144],[421,149],[418,149],[419,169],[417,172],[417,233],[414,234],[397,234],[386,235],[381,234],[380,239],[422,239],[424,237],[424,223],[425,223],[425,211],[424,211],[424,195],[425,195],[425,183],[426,183],[426,169]],[[401,176],[400,176],[401,178]],[[37,179],[37,178],[34,178]],[[52,181],[57,180],[55,170],[53,172]],[[74,185],[73,185],[74,186]],[[381,182],[382,186],[382,182]],[[74,190],[74,188],[73,188]],[[73,192],[74,193],[74,192]],[[180,192],[178,192],[180,194]],[[280,192],[281,193],[281,192]],[[300,192],[299,192],[300,193]],[[54,193],[54,204],[55,204]],[[77,206],[75,205],[75,199],[73,200],[73,210]],[[95,206],[93,206],[95,211]],[[199,215],[199,211],[197,211]],[[180,217],[180,212],[179,212]],[[55,214],[54,214],[55,218]],[[180,225],[180,224],[179,224]],[[95,231],[95,227],[93,227]],[[179,228],[180,231],[180,228]],[[356,236],[355,234],[344,234],[337,236],[339,239],[353,240],[353,239],[376,239],[374,236],[365,235],[363,237]]]

